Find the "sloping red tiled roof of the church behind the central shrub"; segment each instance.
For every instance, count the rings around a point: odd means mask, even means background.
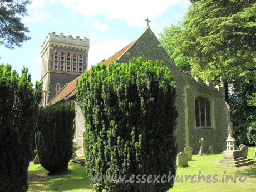
[[[134,40],[135,41],[135,40]],[[132,43],[134,43],[134,41],[132,41],[131,43],[129,43],[129,45],[125,46],[124,48],[122,48],[120,51],[116,52],[114,55],[112,55],[110,58],[108,58],[107,60],[104,61],[104,63],[106,63],[106,66],[109,65],[109,63],[113,60],[115,61],[116,58],[120,58],[122,56],[122,54],[124,54],[124,52],[132,45]],[[88,73],[90,73],[90,70],[88,70]],[[83,75],[83,74],[82,74]],[[56,102],[64,99],[65,97],[71,96],[74,93],[76,93],[76,80],[78,79],[78,82],[80,82],[82,75],[80,75],[79,77],[77,77],[75,80],[71,81],[70,83],[67,84],[66,87],[64,87],[60,93],[58,93],[58,95],[56,97],[53,98],[53,100],[51,101],[51,104],[55,104]]]

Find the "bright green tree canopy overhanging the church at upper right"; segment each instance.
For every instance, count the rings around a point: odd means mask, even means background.
[[[191,1],[184,21],[160,33],[176,65],[189,63],[193,75],[228,82],[255,71],[256,3],[245,0]],[[185,61],[185,62],[184,62]]]

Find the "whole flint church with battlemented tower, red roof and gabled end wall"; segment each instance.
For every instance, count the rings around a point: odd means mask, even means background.
[[[49,36],[50,35],[60,40],[61,35],[56,36],[54,33],[50,33]],[[49,38],[49,36],[47,38]],[[61,38],[65,39],[63,35]],[[72,101],[75,105],[76,131],[73,141],[81,146],[81,149],[77,153],[82,155],[85,150],[83,143],[85,127],[81,109],[76,104],[76,79],[78,79],[78,81],[81,80],[82,75],[80,75],[80,73],[82,73],[87,66],[89,40],[78,41],[77,39],[74,40],[71,38],[69,40],[70,42],[68,43],[70,43],[70,45],[67,45],[67,42],[48,41],[51,45],[47,45],[47,48],[42,50],[42,56],[46,54],[49,57],[46,58],[46,62],[44,62],[45,58],[42,57],[42,74],[47,75],[42,76],[41,81],[46,82],[43,88],[43,91],[46,91],[46,99],[44,100],[46,104]],[[43,46],[45,46],[45,43]],[[203,79],[200,77],[192,78],[191,73],[180,70],[174,65],[168,53],[163,47],[159,47],[159,44],[160,42],[157,40],[157,37],[151,31],[150,27],[147,26],[140,37],[107,58],[104,62],[108,65],[110,61],[115,61],[117,58],[120,63],[128,63],[133,57],[142,57],[144,61],[149,59],[152,61],[163,60],[165,66],[171,71],[173,80],[176,81],[177,86],[175,105],[178,111],[178,119],[175,134],[178,152],[183,151],[183,148],[186,146],[191,146],[193,147],[193,153],[197,153],[200,150],[199,141],[201,138],[204,138],[205,141],[205,152],[209,151],[211,145],[214,146],[215,151],[223,151],[225,149],[228,129],[224,85],[214,86],[213,83],[209,81],[204,83]],[[61,60],[57,62],[57,70],[55,70],[55,53],[57,53],[57,58]],[[63,57],[62,54],[64,55]],[[74,57],[76,57],[76,60],[79,62],[80,57],[82,57],[82,71],[80,71],[80,64],[74,65],[74,63],[71,62]],[[68,64],[68,58],[71,58],[70,64]],[[63,63],[63,68],[61,63]],[[48,65],[46,70],[45,65]],[[70,71],[67,70],[68,65]],[[74,66],[76,66],[75,71],[71,70]],[[168,129],[168,127],[166,127],[166,129]]]

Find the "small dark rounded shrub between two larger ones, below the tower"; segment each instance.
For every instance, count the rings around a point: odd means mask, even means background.
[[[49,174],[67,171],[72,156],[75,109],[68,105],[40,107],[35,129],[40,164]]]

